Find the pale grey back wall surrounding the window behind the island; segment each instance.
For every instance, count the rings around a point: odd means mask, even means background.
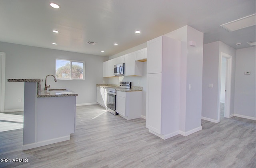
[[[108,57],[61,50],[52,50],[33,46],[24,46],[0,42],[0,52],[6,52],[5,110],[23,109],[24,83],[7,82],[9,78],[45,79],[46,75],[55,75],[55,59],[85,61],[85,80],[58,80],[47,78],[51,87],[66,87],[78,93],[77,104],[96,102],[96,84],[103,83],[103,62]],[[97,67],[97,70],[95,70]],[[22,102],[18,102],[22,98]]]

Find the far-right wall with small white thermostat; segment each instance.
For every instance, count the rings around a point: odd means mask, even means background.
[[[236,50],[234,114],[255,120],[255,47]],[[244,75],[244,72],[251,72]]]

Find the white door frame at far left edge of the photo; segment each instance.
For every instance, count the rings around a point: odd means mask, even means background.
[[[5,52],[0,52],[0,59],[2,62],[2,73],[0,74],[1,78],[1,88],[0,88],[0,93],[1,93],[1,101],[0,101],[0,112],[4,112],[4,99],[5,99]]]

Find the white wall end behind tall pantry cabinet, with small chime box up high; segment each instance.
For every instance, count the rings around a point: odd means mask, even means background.
[[[201,127],[202,66],[204,34],[190,26],[184,26],[165,34],[182,43],[180,72],[180,130],[188,132]],[[196,46],[190,46],[189,41]],[[189,84],[192,89],[189,90]]]

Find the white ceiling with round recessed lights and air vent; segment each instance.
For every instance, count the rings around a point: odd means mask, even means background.
[[[228,32],[220,25],[255,14],[255,6],[255,0],[0,0],[0,41],[112,56],[189,25],[204,32],[204,44],[239,49],[255,42],[255,26]]]

